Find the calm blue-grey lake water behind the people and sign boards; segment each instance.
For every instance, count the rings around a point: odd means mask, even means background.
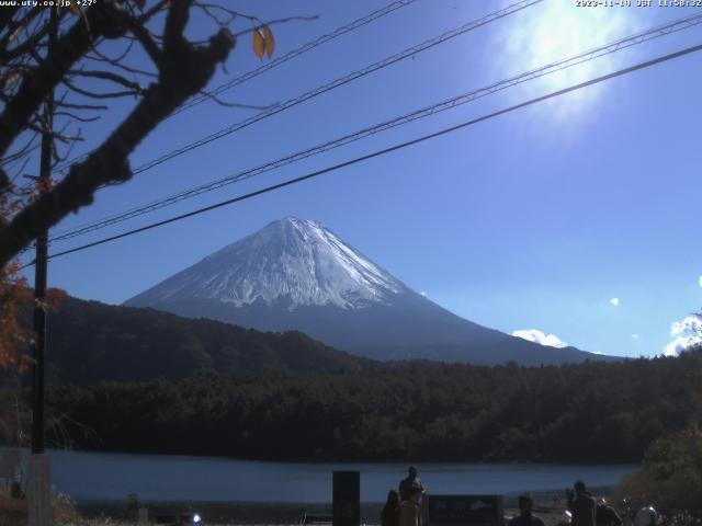
[[[77,502],[141,501],[331,502],[333,470],[361,472],[361,500],[384,501],[406,477],[406,464],[294,464],[214,457],[48,451],[56,491]],[[636,466],[556,466],[531,464],[418,465],[434,494],[561,493],[576,479],[590,487],[612,487]]]

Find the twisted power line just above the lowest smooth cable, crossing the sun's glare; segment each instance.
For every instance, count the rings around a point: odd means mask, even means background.
[[[621,49],[624,48],[629,48],[632,47],[634,45],[638,45],[642,44],[644,42],[648,42],[650,39],[654,38],[658,38],[660,36],[665,36],[668,35],[670,33],[675,33],[678,31],[682,31],[684,28],[689,28],[692,27],[694,25],[701,24],[702,23],[702,13],[701,14],[697,14],[693,16],[688,16],[686,19],[681,19],[675,22],[670,22],[668,24],[664,24],[660,26],[656,26],[653,28],[649,28],[647,31],[641,32],[641,33],[636,33],[634,35],[624,37],[624,38],[620,38],[618,41],[611,42],[609,44],[605,44],[603,46],[580,53],[578,55],[575,55],[573,57],[568,57],[566,59],[556,61],[556,62],[552,62],[550,65],[543,66],[541,68],[536,68],[523,73],[520,73],[518,76],[505,79],[505,80],[500,80],[499,82],[495,82],[492,84],[479,88],[477,90],[467,92],[467,93],[463,93],[460,94],[457,96],[454,96],[452,99],[449,100],[444,100],[441,101],[437,104],[433,104],[431,106],[427,106],[423,107],[421,110],[411,112],[409,114],[405,114],[401,115],[399,117],[395,117],[393,119],[389,121],[385,121],[383,123],[376,124],[374,126],[367,127],[367,128],[363,128],[361,130],[358,130],[355,133],[352,134],[348,134],[344,135],[342,137],[336,138],[333,140],[329,140],[326,141],[324,144],[317,145],[313,148],[308,148],[306,150],[302,150],[298,151],[296,153],[276,159],[274,161],[270,161],[267,162],[264,164],[261,164],[259,167],[256,168],[251,168],[241,172],[237,172],[233,175],[219,179],[217,181],[213,181],[211,183],[184,191],[184,192],[180,192],[178,194],[171,195],[169,197],[166,197],[163,199],[159,199],[156,202],[151,202],[149,204],[129,209],[127,211],[117,214],[117,215],[113,215],[110,216],[107,218],[104,218],[102,220],[99,220],[97,222],[92,222],[89,224],[87,226],[82,226],[79,228],[75,228],[72,230],[66,231],[64,233],[59,233],[57,236],[54,236],[52,238],[52,241],[60,241],[60,240],[66,240],[66,239],[70,239],[70,238],[75,238],[77,236],[81,236],[94,230],[99,230],[102,228],[106,228],[109,226],[125,221],[127,219],[132,219],[134,217],[138,217],[141,216],[144,214],[163,208],[166,206],[170,206],[172,204],[179,203],[181,201],[184,201],[186,198],[191,198],[191,197],[195,197],[197,195],[207,193],[207,192],[212,192],[214,190],[218,190],[223,186],[226,186],[228,184],[234,184],[236,182],[242,181],[242,180],[247,180],[257,175],[260,175],[262,173],[275,170],[278,168],[281,168],[283,165],[287,165],[291,164],[293,162],[329,151],[331,149],[335,148],[339,148],[341,146],[348,145],[350,142],[354,142],[356,140],[361,140],[363,138],[366,138],[371,135],[375,135],[378,134],[381,132],[385,132],[387,129],[417,121],[419,118],[424,118],[428,117],[430,115],[434,115],[437,113],[446,111],[446,110],[451,110],[454,107],[457,107],[460,105],[463,104],[467,104],[469,102],[473,102],[479,98],[486,96],[488,94],[505,90],[507,88],[511,88],[513,85],[517,85],[521,82],[525,82],[529,80],[534,80],[537,79],[540,77],[543,77],[545,75],[550,75],[550,73],[554,73],[556,71],[561,71],[565,68],[569,68],[573,66],[577,66],[580,65],[585,61],[589,61],[589,60],[593,60],[596,58],[600,58],[602,56],[609,55],[609,54],[613,54],[616,53]]]

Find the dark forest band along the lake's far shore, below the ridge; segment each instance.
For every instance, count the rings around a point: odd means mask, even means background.
[[[272,460],[625,462],[702,416],[702,352],[524,368],[398,363],[54,388],[87,449]],[[73,424],[78,422],[81,426]]]

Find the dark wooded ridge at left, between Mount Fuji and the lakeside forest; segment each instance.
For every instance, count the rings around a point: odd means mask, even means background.
[[[54,384],[183,378],[207,370],[356,371],[373,364],[296,331],[263,333],[72,297],[48,317],[47,331]]]

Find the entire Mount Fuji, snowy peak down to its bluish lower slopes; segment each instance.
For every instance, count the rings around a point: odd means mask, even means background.
[[[263,331],[298,330],[380,359],[524,365],[607,359],[460,318],[319,222],[295,217],[271,222],[124,305]]]

